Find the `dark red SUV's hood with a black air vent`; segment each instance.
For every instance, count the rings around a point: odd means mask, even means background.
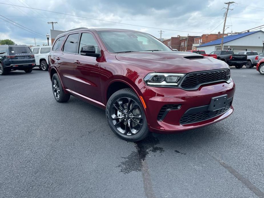
[[[188,56],[196,56],[196,58],[199,56],[201,59],[188,59],[186,58]],[[229,68],[229,66],[221,60],[189,52],[128,52],[116,54],[116,59],[141,65],[155,72],[189,73]]]

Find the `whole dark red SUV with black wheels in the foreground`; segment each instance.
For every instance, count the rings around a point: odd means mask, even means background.
[[[235,84],[225,62],[172,51],[138,31],[67,31],[55,40],[49,73],[58,102],[72,95],[106,109],[111,130],[128,141],[206,126],[233,112]]]

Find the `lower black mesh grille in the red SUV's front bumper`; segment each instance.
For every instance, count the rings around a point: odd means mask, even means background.
[[[194,122],[201,122],[203,120],[207,120],[209,118],[213,118],[215,116],[221,115],[230,108],[230,103],[228,103],[224,108],[212,111],[204,111],[195,114],[184,114],[180,120],[181,124],[189,124]]]

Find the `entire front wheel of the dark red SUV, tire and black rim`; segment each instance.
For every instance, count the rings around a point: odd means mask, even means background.
[[[109,98],[106,119],[114,134],[123,140],[137,142],[148,136],[148,124],[142,105],[130,88],[118,90]]]

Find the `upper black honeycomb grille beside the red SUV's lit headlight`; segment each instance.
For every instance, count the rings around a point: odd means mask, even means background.
[[[181,87],[187,90],[195,90],[198,89],[201,84],[227,81],[229,78],[229,69],[190,73],[184,78]]]

